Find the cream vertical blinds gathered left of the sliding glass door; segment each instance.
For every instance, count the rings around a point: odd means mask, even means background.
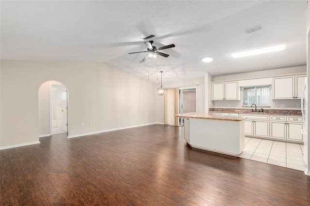
[[[179,125],[179,118],[175,117],[179,114],[179,88],[165,88],[164,94],[164,116],[165,124]]]

